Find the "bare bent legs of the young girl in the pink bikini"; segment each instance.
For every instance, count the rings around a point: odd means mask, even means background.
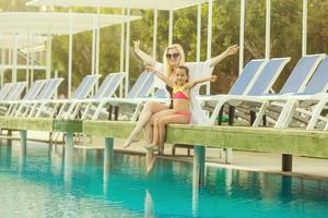
[[[189,120],[187,118],[187,116],[184,114],[171,114],[171,116],[166,116],[166,117],[162,117],[159,121],[159,147],[160,149],[164,148],[164,140],[165,140],[165,126],[167,124],[187,124],[189,123]]]

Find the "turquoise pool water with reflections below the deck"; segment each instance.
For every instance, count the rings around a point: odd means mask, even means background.
[[[206,186],[192,191],[192,166],[159,160],[144,174],[144,157],[77,152],[28,144],[0,146],[0,218],[16,217],[328,217],[328,182],[208,167]]]

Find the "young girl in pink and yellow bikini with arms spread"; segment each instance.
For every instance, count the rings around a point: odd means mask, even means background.
[[[154,72],[162,81],[164,81],[169,87],[173,88],[173,109],[166,109],[163,111],[163,116],[156,118],[153,122],[153,142],[150,145],[144,146],[147,149],[163,148],[165,138],[165,125],[168,123],[187,124],[190,123],[190,89],[207,81],[215,82],[216,76],[212,75],[207,78],[200,78],[196,81],[188,81],[189,69],[187,66],[178,66],[175,71],[174,82],[167,78],[163,73],[148,68],[149,71]]]

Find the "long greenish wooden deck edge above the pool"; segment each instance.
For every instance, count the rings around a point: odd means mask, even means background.
[[[0,118],[1,129],[127,138],[133,122]],[[328,132],[272,128],[169,125],[166,142],[328,158]]]

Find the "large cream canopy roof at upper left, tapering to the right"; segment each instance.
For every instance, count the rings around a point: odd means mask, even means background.
[[[72,19],[72,34],[87,32],[136,21],[141,16],[122,16],[92,13],[65,12],[4,12],[0,13],[0,34],[68,35]]]

